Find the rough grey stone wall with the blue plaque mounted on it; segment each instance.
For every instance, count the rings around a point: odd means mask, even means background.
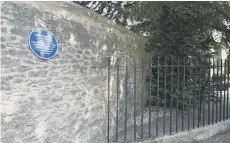
[[[42,60],[29,49],[28,36],[35,28],[46,28],[57,38],[59,52],[54,58]],[[105,142],[105,57],[112,65],[117,57],[138,59],[144,55],[144,43],[71,2],[1,3],[2,142]],[[113,92],[116,77],[111,72]],[[111,120],[114,117],[113,113]]]

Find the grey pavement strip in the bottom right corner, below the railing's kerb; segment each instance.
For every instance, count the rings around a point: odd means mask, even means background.
[[[194,143],[230,143],[230,130],[224,133],[219,133],[207,140],[197,141]]]

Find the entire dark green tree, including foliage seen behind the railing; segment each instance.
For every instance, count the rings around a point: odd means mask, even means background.
[[[230,4],[229,2],[136,2],[132,7],[131,15],[137,24],[130,28],[135,32],[145,34],[149,39],[147,47],[158,53],[160,57],[179,57],[180,65],[189,65],[191,68],[183,67],[173,68],[174,75],[171,75],[171,68],[166,68],[169,74],[166,76],[166,88],[164,84],[165,68],[152,69],[152,83],[156,85],[157,74],[159,77],[159,106],[163,106],[166,102],[170,106],[172,97],[172,105],[179,106],[179,109],[188,108],[190,106],[200,107],[201,104],[208,101],[211,77],[208,75],[207,61],[205,58],[212,57],[215,53],[211,49],[220,49],[223,46],[229,47],[230,27],[225,22],[230,22]],[[221,32],[220,42],[216,42],[213,32]],[[185,58],[185,63],[182,59]],[[188,60],[190,59],[190,60]],[[195,60],[197,63],[195,64]],[[178,61],[175,59],[174,64]],[[161,59],[159,63],[153,61],[153,65],[170,65],[171,61]],[[196,67],[194,65],[202,65]],[[183,72],[183,70],[185,70]],[[189,72],[192,71],[191,77]],[[185,78],[184,74],[185,73]],[[178,83],[177,82],[179,79]],[[185,79],[185,81],[183,81]],[[171,82],[173,84],[170,90]],[[178,86],[177,86],[178,84]],[[185,84],[185,86],[184,86]],[[216,86],[216,85],[212,85]],[[152,105],[156,105],[157,87],[152,89]],[[166,92],[165,92],[166,90]],[[166,93],[166,101],[165,99]],[[211,93],[210,93],[211,94]],[[178,99],[178,104],[176,104]],[[211,94],[210,101],[218,102]],[[182,104],[184,101],[185,104]],[[146,106],[149,105],[147,101]]]

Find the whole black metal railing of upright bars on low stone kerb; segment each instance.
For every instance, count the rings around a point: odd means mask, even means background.
[[[108,142],[154,139],[230,117],[229,60],[151,57],[148,66],[143,58],[110,62]]]

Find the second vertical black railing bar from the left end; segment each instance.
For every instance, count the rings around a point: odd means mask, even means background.
[[[120,92],[120,80],[119,80],[119,58],[117,58],[117,111],[116,111],[116,142],[118,141],[118,108],[119,108],[119,92]]]

